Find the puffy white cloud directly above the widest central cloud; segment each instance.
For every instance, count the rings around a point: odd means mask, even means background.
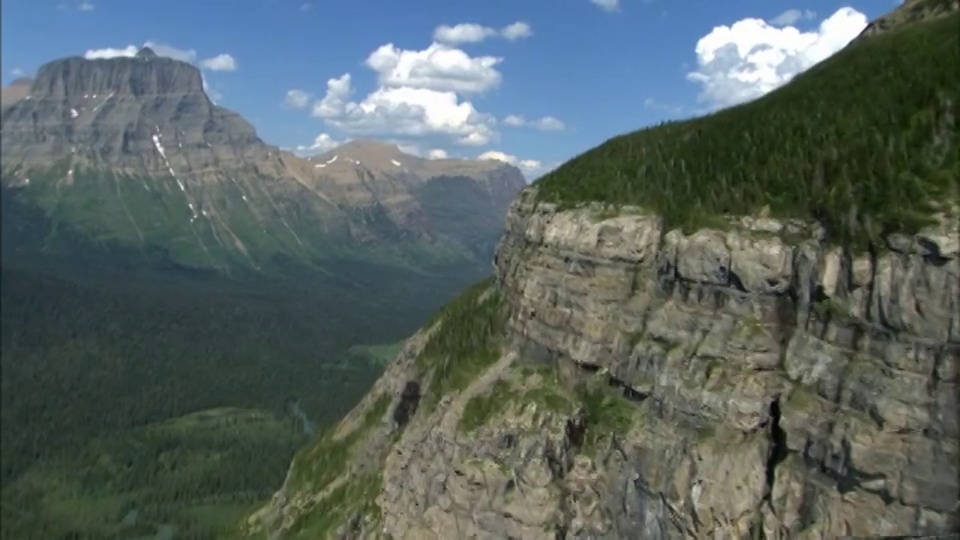
[[[472,57],[440,43],[422,51],[388,43],[373,51],[365,64],[377,73],[381,86],[481,93],[500,84],[503,76],[496,65],[502,61],[494,56]]]

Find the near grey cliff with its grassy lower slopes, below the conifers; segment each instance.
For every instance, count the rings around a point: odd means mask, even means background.
[[[437,363],[430,340],[454,339],[441,317],[298,457],[251,530],[825,538],[960,526],[956,217],[854,256],[798,223],[685,235],[639,212],[532,200],[512,207],[496,284],[472,300],[504,313],[495,354]],[[356,451],[334,463],[334,447]],[[358,491],[331,514],[344,486]]]

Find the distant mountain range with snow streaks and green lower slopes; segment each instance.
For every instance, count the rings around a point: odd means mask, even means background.
[[[344,259],[486,268],[526,185],[506,163],[377,141],[296,156],[214,104],[196,67],[149,48],[55,60],[7,86],[2,144],[4,197],[48,218],[43,250],[70,229],[227,272]],[[16,257],[4,252],[5,264]]]

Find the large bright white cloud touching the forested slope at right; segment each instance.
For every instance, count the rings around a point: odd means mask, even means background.
[[[699,100],[711,108],[755,99],[846,46],[867,26],[867,17],[844,7],[801,32],[761,19],[718,26],[697,42],[696,71],[687,79],[700,85]]]

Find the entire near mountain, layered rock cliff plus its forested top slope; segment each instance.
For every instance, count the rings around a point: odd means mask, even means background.
[[[613,138],[525,190],[495,279],[408,340],[243,533],[960,529],[960,87],[941,69],[958,26],[953,11],[856,40],[754,103]]]

